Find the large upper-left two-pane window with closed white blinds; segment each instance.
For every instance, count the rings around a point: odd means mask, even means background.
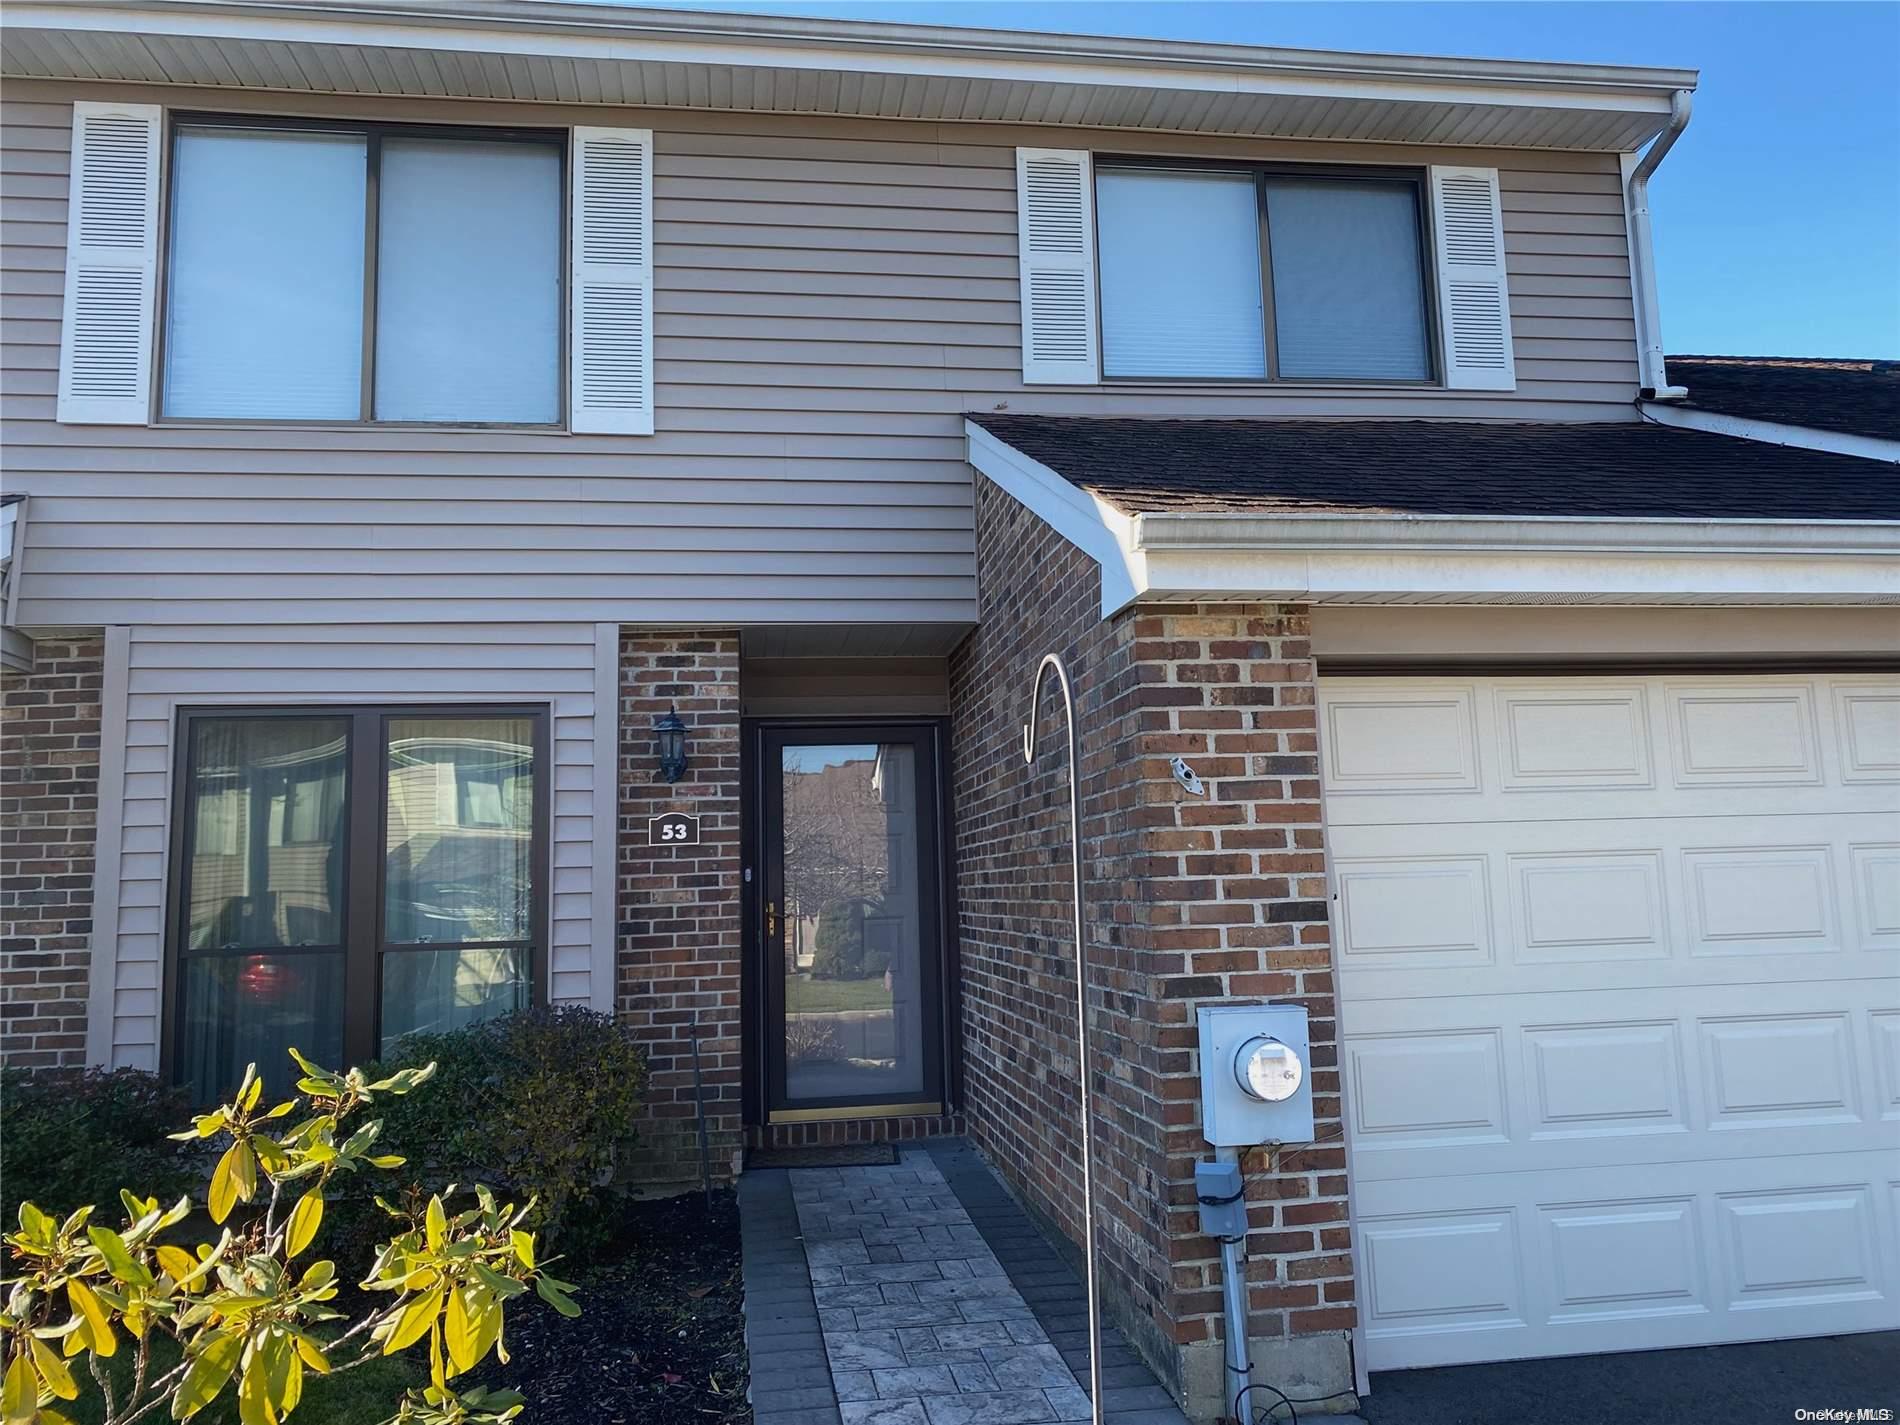
[[[562,416],[564,135],[180,120],[167,420]]]

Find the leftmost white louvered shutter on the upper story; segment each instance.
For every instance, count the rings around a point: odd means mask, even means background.
[[[142,426],[158,285],[156,104],[72,106],[59,420]]]

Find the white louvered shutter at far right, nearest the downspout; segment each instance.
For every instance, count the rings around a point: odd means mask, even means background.
[[[1431,205],[1438,243],[1444,384],[1465,391],[1512,391],[1518,376],[1510,355],[1497,169],[1434,167]]]

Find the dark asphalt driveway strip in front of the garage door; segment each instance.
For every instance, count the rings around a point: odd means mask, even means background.
[[[1389,1370],[1360,1402],[1370,1425],[1796,1425],[1830,1408],[1900,1423],[1900,1332]]]

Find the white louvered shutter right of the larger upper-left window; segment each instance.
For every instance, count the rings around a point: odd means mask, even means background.
[[[654,131],[574,129],[568,429],[654,433]]]

